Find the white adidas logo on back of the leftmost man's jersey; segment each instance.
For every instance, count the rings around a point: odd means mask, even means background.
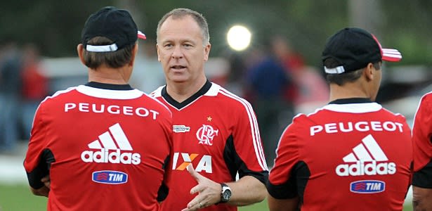
[[[99,136],[99,140],[89,143],[88,146],[91,149],[97,149],[99,151],[82,152],[81,160],[84,162],[110,162],[133,165],[138,165],[141,162],[140,154],[122,152],[132,151],[133,149],[119,123],[112,125],[109,131]]]

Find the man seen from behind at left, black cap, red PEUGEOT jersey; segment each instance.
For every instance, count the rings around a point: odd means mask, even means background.
[[[128,84],[138,37],[128,11],[90,15],[77,46],[89,82],[39,105],[24,166],[48,210],[159,210],[166,197],[171,112]]]

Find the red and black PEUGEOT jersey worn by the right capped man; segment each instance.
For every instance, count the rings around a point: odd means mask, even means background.
[[[405,117],[363,98],[297,115],[270,170],[274,198],[299,196],[301,210],[402,210],[412,143]]]

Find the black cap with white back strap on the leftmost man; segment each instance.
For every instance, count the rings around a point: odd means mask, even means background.
[[[111,39],[114,44],[104,46],[87,44],[94,37],[106,37]],[[92,52],[117,51],[134,44],[138,37],[145,39],[145,34],[138,31],[131,14],[113,6],[101,8],[98,12],[91,14],[81,32],[84,49]]]

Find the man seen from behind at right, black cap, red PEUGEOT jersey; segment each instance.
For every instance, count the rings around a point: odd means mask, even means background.
[[[401,58],[360,28],[328,39],[322,63],[330,102],[296,115],[282,134],[267,183],[270,210],[402,210],[410,127],[374,102],[382,62]]]

